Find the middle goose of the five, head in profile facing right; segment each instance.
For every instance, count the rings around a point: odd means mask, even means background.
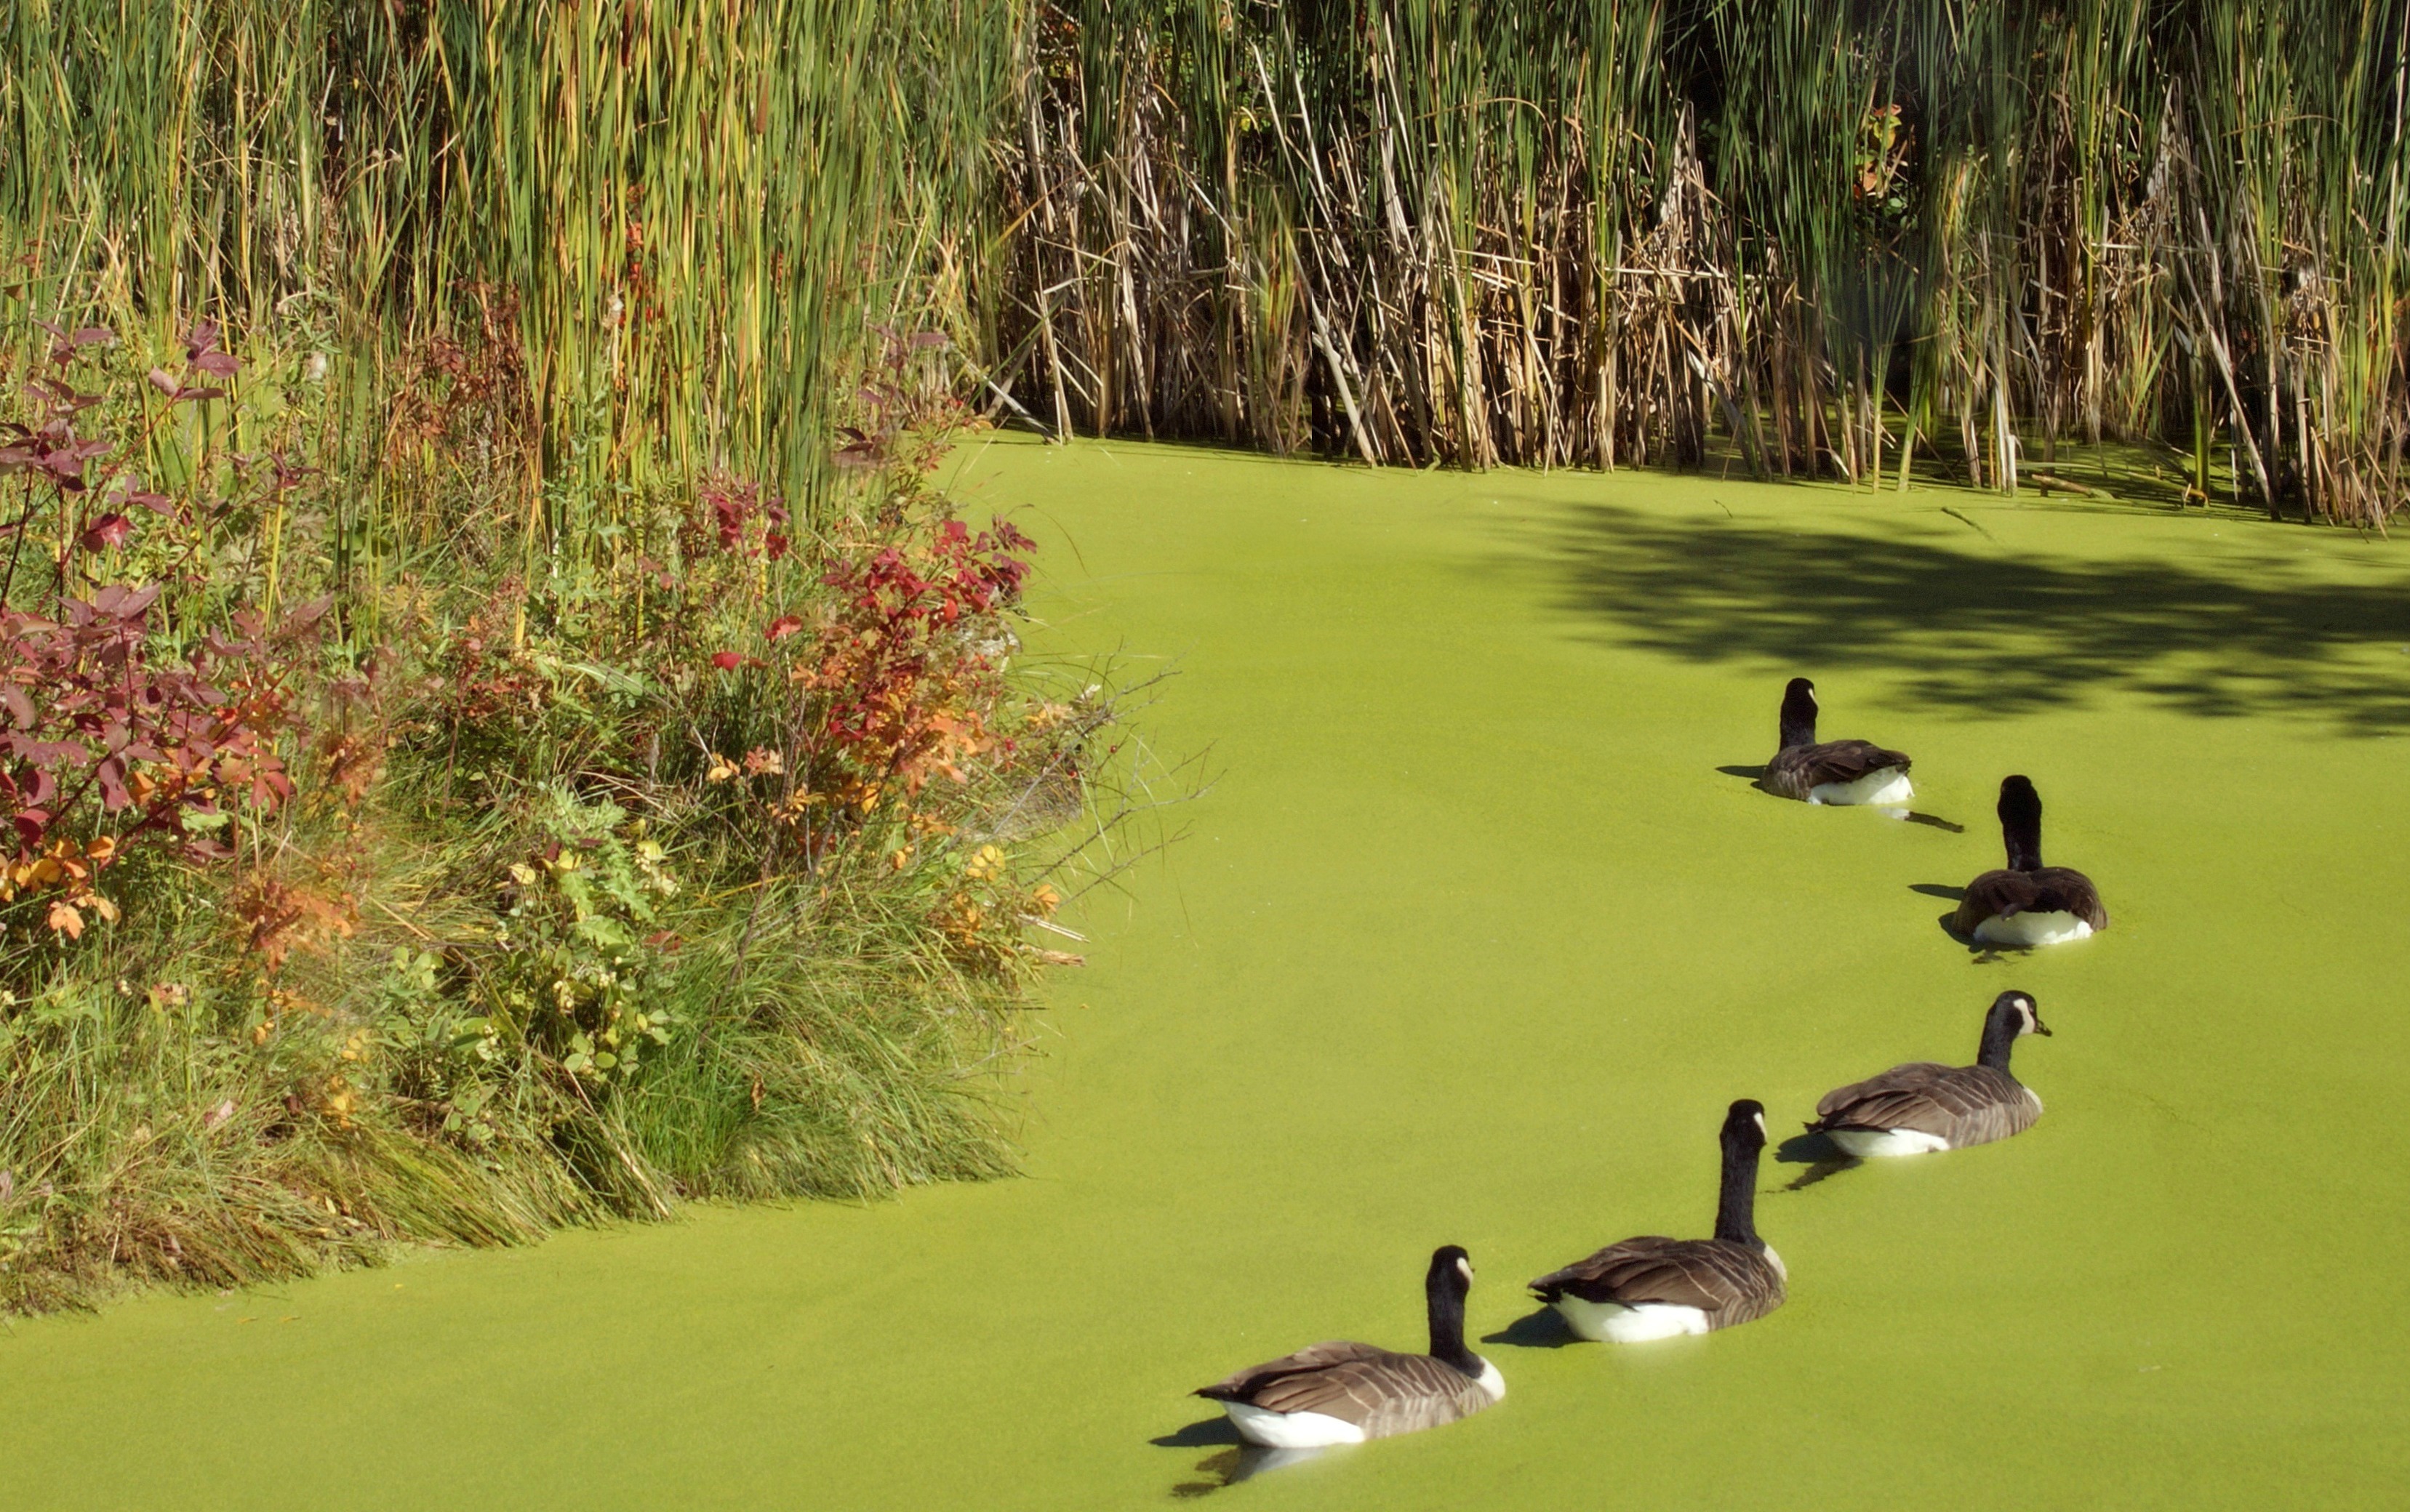
[[[1914,1062],[1824,1093],[1810,1134],[1858,1156],[1923,1156],[2024,1134],[2041,1117],[2034,1088],[2008,1074],[2017,1035],[2046,1035],[2032,992],[2003,992],[1983,1014],[1971,1067]]]

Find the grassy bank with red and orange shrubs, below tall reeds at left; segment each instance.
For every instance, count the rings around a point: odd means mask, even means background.
[[[848,510],[713,472],[533,583],[472,498],[342,573],[284,450],[328,409],[229,342],[43,332],[0,450],[0,1307],[1010,1170],[1070,961],[1027,932],[1121,758],[1017,655],[1029,542],[933,486],[966,419],[911,342]],[[441,467],[496,433],[455,409]]]

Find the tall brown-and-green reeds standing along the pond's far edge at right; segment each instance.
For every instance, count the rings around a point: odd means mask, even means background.
[[[1056,431],[2000,489],[2123,438],[2403,496],[2403,0],[1080,0],[1015,46],[986,339]]]

